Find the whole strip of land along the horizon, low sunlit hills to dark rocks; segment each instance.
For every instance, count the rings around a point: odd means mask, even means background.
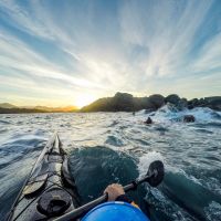
[[[209,107],[214,110],[221,110],[221,96],[211,96],[203,98],[193,98],[188,101],[185,97],[179,97],[177,94],[162,96],[154,94],[145,97],[134,97],[128,93],[117,92],[114,97],[99,98],[92,104],[84,106],[81,109],[74,106],[67,107],[18,107],[9,103],[0,104],[0,114],[21,114],[21,113],[73,113],[73,112],[137,112],[140,109],[157,110],[165,104],[170,103],[177,109]]]

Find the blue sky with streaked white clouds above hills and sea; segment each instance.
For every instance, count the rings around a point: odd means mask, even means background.
[[[1,0],[0,103],[221,95],[220,0]]]

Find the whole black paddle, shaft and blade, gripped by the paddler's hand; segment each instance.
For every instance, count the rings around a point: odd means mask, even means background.
[[[165,175],[164,164],[160,160],[156,160],[150,164],[147,175],[144,178],[134,180],[131,183],[125,186],[124,190],[125,190],[125,192],[127,192],[129,190],[135,190],[137,188],[137,186],[143,182],[148,182],[151,187],[157,187],[162,181],[164,175]],[[96,200],[93,200],[93,201],[55,219],[55,221],[71,221],[71,220],[81,218],[84,214],[86,214],[94,207],[107,201],[107,199],[108,199],[108,196],[103,194],[102,197],[97,198]]]

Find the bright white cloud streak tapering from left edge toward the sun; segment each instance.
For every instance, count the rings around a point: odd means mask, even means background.
[[[59,66],[56,63],[51,63],[38,53],[32,51],[25,43],[7,34],[0,35],[0,65],[8,66],[30,75],[38,75],[46,78],[63,80],[67,83],[83,86],[97,87],[87,80],[71,76],[65,67]]]

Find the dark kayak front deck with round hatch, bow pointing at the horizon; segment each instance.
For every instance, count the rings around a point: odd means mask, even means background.
[[[55,133],[21,188],[8,220],[53,220],[80,206],[80,194],[69,170],[67,155]]]

